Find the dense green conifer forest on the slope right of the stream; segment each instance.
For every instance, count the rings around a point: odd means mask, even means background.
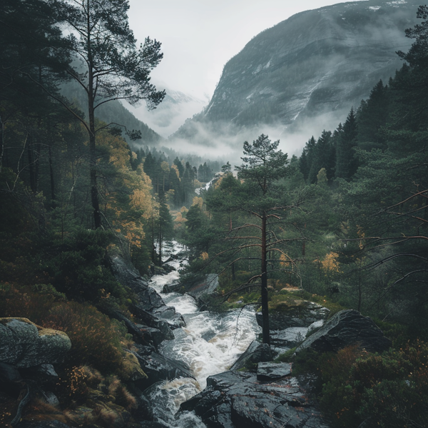
[[[370,315],[392,338],[394,349],[382,355],[355,346],[295,361],[293,372],[317,378],[335,427],[427,422],[427,6],[418,18],[407,30],[412,48],[398,53],[402,68],[343,124],[310,138],[298,159],[284,158],[267,136],[245,142],[238,174],[224,165],[187,214],[187,275],[217,272],[229,305],[281,311],[301,290],[332,313]]]

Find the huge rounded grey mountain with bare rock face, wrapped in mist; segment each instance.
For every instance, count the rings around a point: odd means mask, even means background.
[[[206,144],[218,129],[225,136],[248,128],[309,134],[336,127],[379,79],[387,83],[402,66],[396,51],[407,51],[412,44],[404,29],[416,23],[419,4],[335,4],[263,31],[226,63],[207,108],[175,138]]]

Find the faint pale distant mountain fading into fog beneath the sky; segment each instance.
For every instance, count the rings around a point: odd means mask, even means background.
[[[161,85],[156,85],[156,87],[165,89],[166,96],[154,110],[148,111],[146,106],[139,108],[126,107],[137,118],[147,123],[148,126],[165,138],[177,131],[187,118],[199,113],[208,104],[208,99],[204,101],[180,91],[164,88]]]

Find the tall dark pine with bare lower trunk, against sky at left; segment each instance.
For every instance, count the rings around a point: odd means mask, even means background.
[[[86,91],[88,121],[60,98],[56,99],[81,121],[88,132],[91,203],[94,225],[99,228],[96,133],[101,128],[96,128],[96,108],[118,99],[131,104],[145,100],[148,108],[155,108],[165,91],[156,91],[149,76],[163,54],[161,44],[149,38],[139,49],[136,48],[136,39],[128,26],[128,0],[58,0],[56,4],[59,19],[71,29],[68,42],[79,63],[66,71]],[[138,137],[133,133],[129,135]]]

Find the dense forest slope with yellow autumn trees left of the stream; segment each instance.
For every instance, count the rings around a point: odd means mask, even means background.
[[[36,394],[30,405],[21,405],[24,419],[50,420],[54,413],[54,419],[78,426],[81,414],[66,412],[84,404],[93,410],[85,417],[88,424],[108,427],[122,412],[129,417],[137,408],[145,411],[129,382],[146,374],[124,351],[133,347],[133,337],[115,319],[141,322],[130,310],[138,299],[113,275],[113,258],[132,262],[141,275],[153,273],[162,264],[163,240],[173,238],[175,225],[185,220],[179,209],[185,212],[195,188],[218,166],[148,148],[153,135],[146,128],[122,122],[127,116],[117,105],[103,110],[108,98],[136,101],[138,94],[152,94],[154,99],[144,99],[161,101],[148,83],[160,44],[148,39],[143,52],[133,50],[128,1],[89,1],[91,7],[116,8],[115,14],[97,9],[91,19],[98,16],[96,25],[106,24],[101,32],[116,31],[108,41],[123,38],[126,49],[99,46],[95,37],[95,62],[86,71],[75,68],[76,52],[88,58],[87,45],[62,30],[66,21],[81,19],[81,10],[68,9],[78,4],[6,0],[0,5],[0,317],[26,317],[72,338],[71,352],[56,365],[61,410]],[[133,67],[140,59],[147,69]],[[105,77],[103,61],[111,61],[112,75],[102,88],[91,86],[91,74],[100,73],[98,81],[93,77],[95,85]],[[71,79],[86,87],[83,96],[71,91],[66,97],[63,85]],[[128,91],[130,81],[137,94]],[[178,210],[178,221],[170,210]],[[0,424],[8,424],[17,414],[19,389],[15,396],[0,383]],[[93,390],[116,412],[101,409]]]

